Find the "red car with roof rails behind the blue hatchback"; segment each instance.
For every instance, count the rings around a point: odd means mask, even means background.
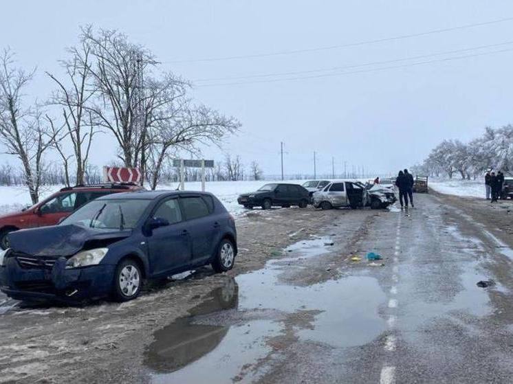
[[[9,247],[8,234],[18,229],[56,225],[78,207],[105,194],[142,190],[135,184],[77,185],[63,188],[21,212],[0,216],[0,248]]]

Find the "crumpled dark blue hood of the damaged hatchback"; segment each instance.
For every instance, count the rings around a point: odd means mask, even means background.
[[[71,256],[91,240],[121,240],[131,229],[98,229],[81,225],[54,225],[23,229],[9,234],[10,248],[34,256]]]

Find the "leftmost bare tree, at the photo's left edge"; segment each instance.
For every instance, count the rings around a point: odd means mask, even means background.
[[[14,54],[5,49],[0,56],[0,140],[10,155],[21,162],[25,184],[32,203],[39,201],[43,172],[43,154],[50,148],[53,135],[42,124],[41,113],[23,101],[23,89],[34,71],[15,67]]]

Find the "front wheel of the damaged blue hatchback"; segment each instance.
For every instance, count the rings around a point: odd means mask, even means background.
[[[122,260],[114,273],[113,296],[118,302],[128,302],[138,297],[142,288],[142,274],[133,259]]]

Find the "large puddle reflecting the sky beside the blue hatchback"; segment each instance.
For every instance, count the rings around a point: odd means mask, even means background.
[[[378,314],[386,295],[374,278],[350,276],[310,286],[280,281],[283,271],[290,272],[288,264],[329,252],[330,242],[314,238],[287,247],[284,255],[294,257],[270,260],[263,269],[237,276],[235,289],[214,291],[189,317],[157,330],[144,354],[152,381],[252,381],[265,374],[265,364],[257,362],[279,354],[270,341],[283,337],[285,328],[299,342],[336,348],[361,346],[378,337],[386,327]]]

